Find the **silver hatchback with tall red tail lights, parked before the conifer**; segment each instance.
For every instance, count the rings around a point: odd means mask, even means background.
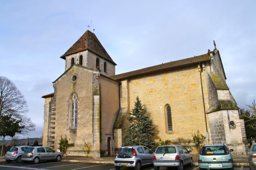
[[[116,170],[121,167],[134,167],[140,170],[141,166],[153,163],[154,151],[145,146],[125,146],[121,147],[114,160]]]

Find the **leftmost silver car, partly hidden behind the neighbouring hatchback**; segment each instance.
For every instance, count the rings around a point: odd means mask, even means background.
[[[8,150],[5,154],[5,161],[10,163],[12,161],[16,161],[17,163],[21,163],[21,156],[23,152],[30,148],[31,146],[17,146],[12,147],[10,150]]]

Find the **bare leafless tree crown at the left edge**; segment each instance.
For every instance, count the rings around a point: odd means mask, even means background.
[[[12,115],[15,120],[25,126],[20,134],[28,134],[35,130],[35,124],[29,117],[27,101],[19,89],[7,77],[0,76],[0,116]]]

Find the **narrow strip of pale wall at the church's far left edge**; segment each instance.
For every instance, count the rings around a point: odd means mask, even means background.
[[[48,146],[48,123],[49,123],[49,102],[52,100],[52,97],[45,98],[44,105],[44,116],[43,116],[43,146]]]

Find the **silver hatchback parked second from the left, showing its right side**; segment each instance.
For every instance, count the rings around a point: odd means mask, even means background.
[[[33,163],[38,163],[39,161],[46,160],[56,160],[60,161],[62,159],[61,152],[56,152],[49,147],[32,147],[24,151],[22,161],[27,163],[33,161]]]

